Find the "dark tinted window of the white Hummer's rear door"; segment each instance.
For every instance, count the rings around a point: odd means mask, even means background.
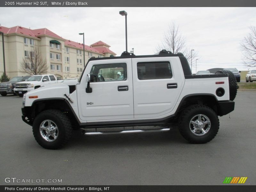
[[[172,69],[169,62],[140,62],[137,63],[138,79],[170,79]]]

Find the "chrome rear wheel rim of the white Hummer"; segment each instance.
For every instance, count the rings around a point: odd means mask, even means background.
[[[189,122],[190,131],[196,136],[202,136],[209,132],[211,121],[206,115],[198,114]]]

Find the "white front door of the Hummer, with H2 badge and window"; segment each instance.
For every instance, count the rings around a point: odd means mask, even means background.
[[[86,77],[90,73],[94,82],[90,83],[92,92],[86,93]],[[90,61],[83,76],[77,84],[81,120],[95,122],[134,118],[131,59]]]

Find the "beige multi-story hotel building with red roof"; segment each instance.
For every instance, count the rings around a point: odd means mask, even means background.
[[[42,58],[47,63],[47,74],[58,79],[79,77],[84,69],[83,44],[62,38],[47,28],[30,29],[20,26],[7,28],[0,26],[4,34],[5,70],[9,77],[24,76],[20,72],[21,62],[34,46],[38,46]],[[111,57],[116,53],[109,45],[98,41],[84,45],[85,63],[91,57]],[[2,36],[0,35],[0,75],[4,72]]]

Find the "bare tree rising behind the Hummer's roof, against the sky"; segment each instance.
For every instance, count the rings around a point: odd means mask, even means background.
[[[157,51],[161,51],[163,49],[171,51],[174,54],[181,52],[187,58],[189,64],[191,63],[191,49],[187,47],[186,38],[181,35],[179,26],[177,26],[175,22],[172,22],[172,24],[169,25],[168,30],[164,32],[162,44],[158,45],[156,48]],[[192,65],[197,56],[198,53],[196,51],[192,51]]]

